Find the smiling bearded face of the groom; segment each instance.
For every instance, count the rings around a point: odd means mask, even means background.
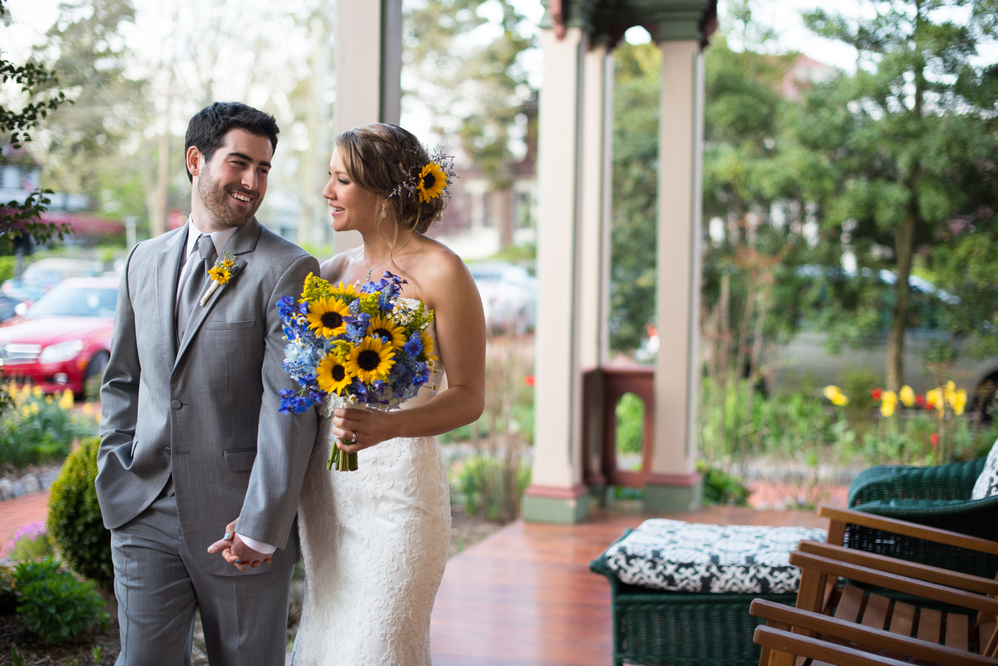
[[[269,139],[241,129],[230,130],[207,162],[199,154],[194,185],[214,226],[242,227],[250,221],[266,194],[272,157]]]

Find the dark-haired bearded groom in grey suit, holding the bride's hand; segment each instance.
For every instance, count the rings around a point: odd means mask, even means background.
[[[96,481],[119,666],[190,664],[196,610],[212,666],[284,663],[317,420],[277,411],[278,391],[296,386],[280,367],[275,304],[297,297],[318,263],[253,217],[277,132],[243,104],[199,112],[187,134],[191,219],[137,245],[125,265]],[[225,258],[235,270],[212,292],[209,271]],[[213,554],[224,546],[226,559]]]

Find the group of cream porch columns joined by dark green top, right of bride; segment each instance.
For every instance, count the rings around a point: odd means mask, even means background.
[[[535,449],[526,520],[578,522],[591,432],[605,424],[583,372],[605,364],[609,290],[613,47],[644,26],[663,51],[659,136],[658,313],[654,437],[646,453],[645,507],[700,505],[694,424],[700,290],[703,58],[717,0],[547,0],[541,43],[545,84],[538,131]],[[588,404],[587,404],[588,403]],[[585,406],[584,406],[585,405]]]

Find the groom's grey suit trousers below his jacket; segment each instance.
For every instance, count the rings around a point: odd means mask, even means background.
[[[111,530],[111,551],[122,638],[117,666],[189,665],[198,609],[212,666],[283,665],[294,567],[236,576],[202,571],[181,535],[177,498],[166,490]]]

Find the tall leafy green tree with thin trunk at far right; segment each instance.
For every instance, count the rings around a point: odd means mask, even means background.
[[[903,339],[926,317],[907,304],[914,271],[934,275],[950,294],[983,297],[979,308],[965,307],[967,301],[945,308],[954,312],[940,324],[966,333],[994,312],[993,287],[981,290],[956,259],[981,245],[984,260],[998,211],[998,71],[975,60],[978,43],[994,39],[994,26],[988,27],[988,12],[964,14],[958,24],[936,13],[935,3],[918,0],[877,6],[858,22],[805,13],[816,34],[857,49],[858,67],[806,91],[794,133],[809,156],[799,179],[822,223],[824,266],[848,255],[860,275],[888,270],[897,280],[884,295],[875,280],[839,278],[828,285],[834,296],[822,304],[817,324],[849,342],[888,328]],[[964,246],[956,239],[964,233],[979,236],[965,236]],[[903,383],[895,372],[903,370],[901,353],[900,345],[888,348],[887,388]]]

